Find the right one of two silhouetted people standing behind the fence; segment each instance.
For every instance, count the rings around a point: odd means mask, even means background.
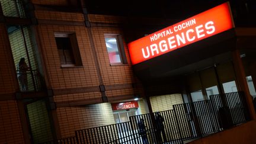
[[[156,140],[158,141],[158,143],[162,143],[162,137],[163,137],[164,142],[167,142],[167,137],[165,135],[165,130],[164,130],[164,117],[161,116],[159,111],[156,111],[155,121],[156,121]]]

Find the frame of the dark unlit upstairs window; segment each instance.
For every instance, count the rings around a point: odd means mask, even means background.
[[[72,64],[61,64],[61,59],[60,59],[60,65],[61,68],[71,68],[71,67],[81,67],[82,65],[82,58],[81,58],[81,54],[80,54],[80,50],[79,50],[79,46],[78,46],[78,40],[76,39],[76,33],[74,32],[55,32],[55,38],[56,37],[68,37],[70,42],[71,42],[71,49],[72,50],[72,56],[74,59],[74,63]],[[57,41],[55,40],[56,43],[56,47],[57,47]],[[57,47],[57,50],[58,47]],[[58,53],[59,54],[59,53]],[[60,55],[59,55],[60,57]]]

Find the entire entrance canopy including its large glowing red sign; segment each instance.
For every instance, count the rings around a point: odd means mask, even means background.
[[[141,79],[184,75],[231,59],[236,34],[226,2],[128,44]]]

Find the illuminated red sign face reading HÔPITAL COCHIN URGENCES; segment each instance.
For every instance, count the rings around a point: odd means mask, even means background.
[[[229,3],[226,2],[129,43],[130,58],[135,65],[233,27]]]

